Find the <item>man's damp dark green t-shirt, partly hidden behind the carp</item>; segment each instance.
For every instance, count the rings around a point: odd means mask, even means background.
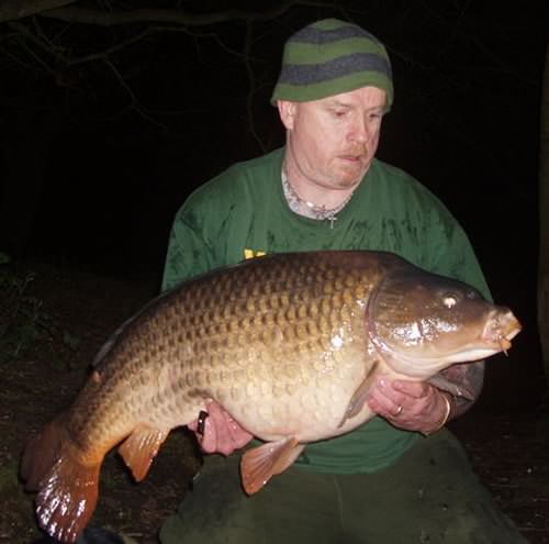
[[[490,297],[466,233],[414,178],[374,159],[332,224],[289,209],[281,184],[283,152],[238,163],[189,197],[173,221],[163,289],[265,253],[377,249],[466,281]],[[309,444],[296,463],[325,473],[374,471],[418,437],[374,418],[351,433]]]

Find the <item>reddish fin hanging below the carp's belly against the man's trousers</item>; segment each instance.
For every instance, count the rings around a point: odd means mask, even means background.
[[[247,495],[259,491],[272,476],[285,470],[305,446],[293,436],[248,449],[240,462],[240,476]]]

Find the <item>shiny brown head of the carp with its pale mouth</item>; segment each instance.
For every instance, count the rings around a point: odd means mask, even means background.
[[[371,293],[366,315],[369,338],[383,360],[418,379],[506,352],[520,331],[508,308],[467,284],[415,267],[389,274]]]

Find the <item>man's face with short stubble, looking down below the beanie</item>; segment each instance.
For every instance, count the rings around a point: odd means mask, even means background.
[[[310,102],[278,102],[299,176],[327,189],[357,186],[378,149],[385,92],[363,87]],[[293,169],[293,168],[292,168]]]

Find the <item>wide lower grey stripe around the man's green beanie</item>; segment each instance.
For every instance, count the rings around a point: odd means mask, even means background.
[[[314,85],[357,71],[378,71],[391,79],[391,65],[374,53],[354,53],[323,64],[284,64],[279,84]]]

